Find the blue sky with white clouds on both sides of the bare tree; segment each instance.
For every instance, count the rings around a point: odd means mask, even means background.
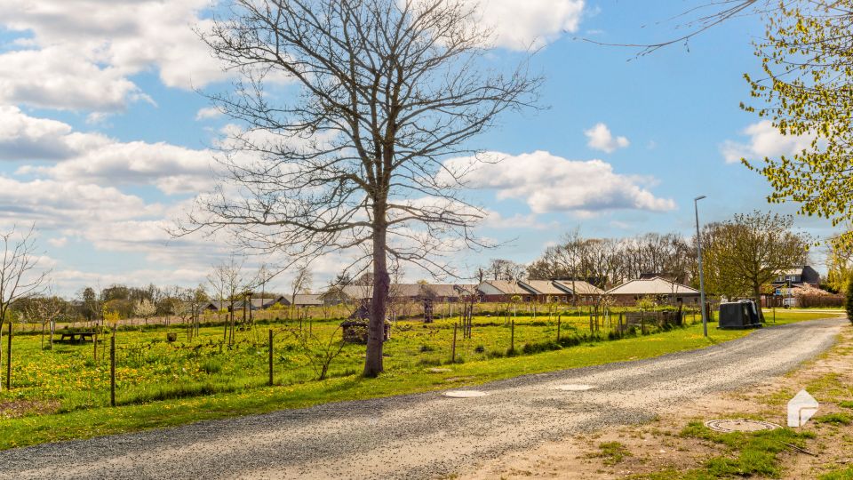
[[[743,74],[759,66],[751,42],[761,19],[732,20],[689,49],[673,45],[641,58],[578,40],[673,38],[682,32],[678,20],[657,22],[699,3],[482,6],[506,47],[491,53],[494,66],[522,58],[520,38],[538,38],[531,66],[546,77],[547,108],[504,116],[474,140],[472,147],[506,156],[502,168],[517,178],[507,179],[513,188],[488,188],[484,179],[469,193],[493,215],[482,235],[507,243],[460,262],[529,262],[576,226],[586,236],[690,235],[697,195],[708,196],[706,221],[770,208],[765,180],[732,162],[787,153],[801,141],[779,138],[738,108],[749,100]],[[36,222],[44,266],[66,294],[116,282],[202,282],[227,248],[201,237],[171,240],[163,226],[209,188],[207,148],[232,122],[200,114],[209,104],[193,90],[227,88],[189,28],[204,27],[208,2],[21,4],[0,0],[0,227]],[[824,220],[797,225],[816,236],[833,231]],[[338,268],[334,259],[318,262],[315,287]]]

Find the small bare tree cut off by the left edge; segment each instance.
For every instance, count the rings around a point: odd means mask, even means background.
[[[0,260],[0,327],[3,327],[9,308],[15,300],[41,293],[47,281],[48,272],[36,270],[38,256],[35,231],[34,225],[26,231],[19,232],[12,227],[11,230],[0,233],[0,243],[3,244],[3,259]],[[3,345],[2,340],[3,329],[0,328],[0,345]],[[0,352],[0,367],[2,366],[3,353]]]

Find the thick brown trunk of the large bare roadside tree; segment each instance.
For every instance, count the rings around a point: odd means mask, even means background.
[[[384,214],[383,214],[384,218]],[[377,225],[373,231],[373,295],[371,319],[367,328],[367,355],[364,360],[364,376],[376,377],[383,372],[382,344],[385,342],[385,314],[391,276],[388,275],[386,256],[386,227]]]

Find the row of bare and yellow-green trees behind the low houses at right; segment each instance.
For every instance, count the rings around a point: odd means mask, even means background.
[[[794,230],[789,215],[751,212],[708,223],[702,228],[706,291],[758,299],[761,287],[780,271],[808,263],[811,244],[808,235]],[[648,233],[592,238],[575,229],[526,268],[512,260],[495,259],[480,268],[478,276],[481,280],[585,280],[607,289],[654,274],[698,288],[697,252],[696,236]],[[850,258],[849,252],[833,250],[831,259],[838,264],[834,277],[849,275]]]

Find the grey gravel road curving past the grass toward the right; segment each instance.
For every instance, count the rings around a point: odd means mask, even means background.
[[[496,381],[479,398],[395,396],[16,449],[0,452],[0,478],[432,478],[777,376],[833,345],[844,323],[788,324],[697,351]],[[594,388],[558,389],[566,384]]]

